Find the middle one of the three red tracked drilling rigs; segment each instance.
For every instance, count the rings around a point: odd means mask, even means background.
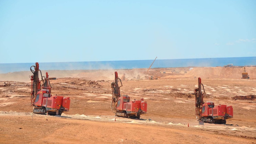
[[[132,100],[130,102],[130,97],[128,95],[120,94],[120,87],[118,83],[121,83],[121,79],[118,77],[117,72],[115,72],[115,82],[111,83],[112,88],[112,103],[111,108],[116,112],[116,116],[119,117],[134,117],[140,118],[141,114],[147,113],[147,102],[141,100]]]

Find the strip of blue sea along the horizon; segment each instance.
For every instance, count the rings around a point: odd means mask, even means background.
[[[83,61],[83,62],[39,62],[41,70],[93,70],[93,69],[133,69],[149,68],[153,60],[131,61]],[[223,67],[227,64],[233,66],[256,65],[256,57],[233,58],[192,58],[192,59],[156,59],[151,68],[167,67]],[[0,73],[30,71],[35,63],[0,64]]]

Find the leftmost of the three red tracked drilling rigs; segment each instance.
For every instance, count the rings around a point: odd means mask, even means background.
[[[32,69],[34,67],[34,70]],[[39,64],[30,67],[33,75],[29,76],[31,79],[31,105],[34,106],[33,113],[61,115],[64,111],[69,111],[70,98],[64,96],[52,96],[50,80],[56,79],[55,77],[49,78],[48,72],[46,76],[42,76],[39,69]],[[39,80],[39,74],[41,80]],[[42,87],[41,87],[42,82]]]

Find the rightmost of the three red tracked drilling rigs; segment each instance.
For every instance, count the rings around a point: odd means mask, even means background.
[[[214,107],[214,102],[203,102],[201,78],[198,77],[198,88],[195,91],[195,111],[199,120],[211,124],[226,124],[226,119],[233,118],[233,107],[229,105],[218,105]]]

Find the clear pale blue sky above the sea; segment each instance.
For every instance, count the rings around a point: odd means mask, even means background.
[[[0,0],[0,63],[256,56],[256,1]]]

